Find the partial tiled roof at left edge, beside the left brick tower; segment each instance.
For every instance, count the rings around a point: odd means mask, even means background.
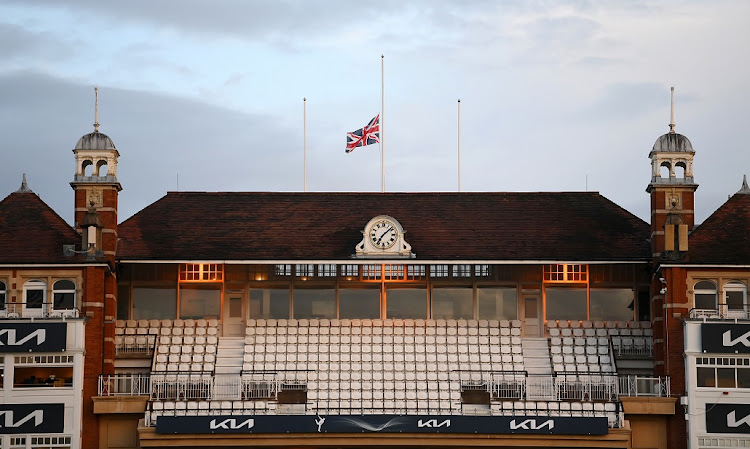
[[[14,192],[0,202],[0,263],[80,263],[64,256],[63,245],[80,249],[81,237],[32,192]]]

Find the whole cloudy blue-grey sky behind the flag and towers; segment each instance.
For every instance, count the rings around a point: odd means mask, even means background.
[[[648,153],[696,150],[697,219],[750,174],[750,2],[0,0],[0,197],[72,220],[71,152],[99,122],[120,218],[167,191],[599,191],[648,219]],[[178,182],[179,180],[179,182]]]

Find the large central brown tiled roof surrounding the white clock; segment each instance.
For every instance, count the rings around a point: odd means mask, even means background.
[[[390,215],[417,260],[649,260],[649,226],[598,193],[177,192],[119,227],[120,260],[348,260]]]

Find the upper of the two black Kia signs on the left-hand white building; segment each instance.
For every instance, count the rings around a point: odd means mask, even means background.
[[[64,351],[66,326],[65,323],[0,322],[0,353]]]

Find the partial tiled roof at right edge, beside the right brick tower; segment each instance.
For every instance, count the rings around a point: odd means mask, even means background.
[[[735,194],[688,239],[692,264],[750,265],[750,195]]]

